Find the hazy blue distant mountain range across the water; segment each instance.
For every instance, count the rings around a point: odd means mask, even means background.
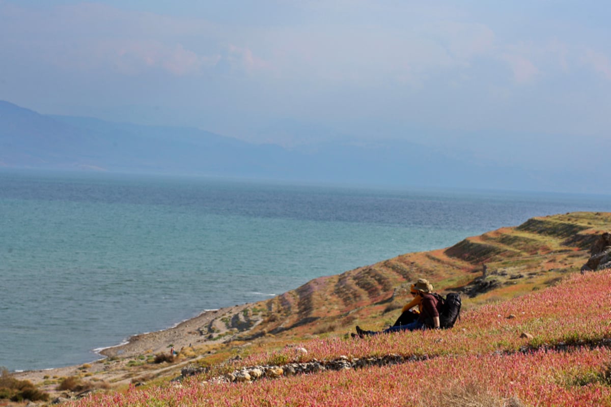
[[[42,115],[6,101],[0,101],[0,167],[371,185],[571,190],[551,174],[459,159],[397,140],[367,144],[328,142],[287,149],[247,143],[196,128]]]

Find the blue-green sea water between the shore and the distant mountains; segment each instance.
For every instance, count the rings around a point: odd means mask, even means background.
[[[95,348],[609,196],[0,171],[0,366]]]

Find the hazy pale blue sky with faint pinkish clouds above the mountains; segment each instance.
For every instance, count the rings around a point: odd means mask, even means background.
[[[609,21],[608,1],[0,0],[0,99],[284,145],[596,151]]]

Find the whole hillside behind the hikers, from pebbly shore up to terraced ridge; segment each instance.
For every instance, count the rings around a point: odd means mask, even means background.
[[[437,292],[462,292],[464,312],[470,314],[482,306],[555,286],[579,273],[590,258],[590,247],[609,230],[611,213],[606,212],[532,218],[517,227],[468,237],[452,247],[403,254],[316,278],[266,301],[220,309],[172,330],[139,335],[130,344],[106,350],[108,360],[58,370],[57,380],[49,380],[48,371],[26,372],[20,377],[55,395],[62,376],[89,377],[91,383],[117,388],[172,378],[194,363],[224,366],[235,356],[273,353],[307,339],[346,338],[357,324],[370,329],[392,324],[408,297],[411,300],[409,284],[420,277],[433,282]],[[466,320],[463,325],[468,330],[473,323],[477,322]],[[496,337],[494,330],[489,334],[499,344],[507,342]],[[157,336],[163,338],[155,339]],[[165,353],[170,340],[181,350],[178,359],[154,364],[153,356]],[[496,345],[491,342],[489,346]]]

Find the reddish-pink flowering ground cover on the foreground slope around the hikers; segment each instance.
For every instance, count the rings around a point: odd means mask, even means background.
[[[524,332],[532,339],[520,337]],[[465,400],[485,400],[479,405],[513,400],[525,406],[611,406],[611,350],[602,346],[610,338],[611,272],[588,273],[465,312],[452,330],[315,339],[301,344],[307,355],[287,348],[241,364],[390,353],[428,355],[428,360],[254,383],[213,384],[199,376],[181,384],[93,395],[73,405],[449,406],[457,404],[447,400],[460,394]],[[554,346],[559,350],[551,350]]]

